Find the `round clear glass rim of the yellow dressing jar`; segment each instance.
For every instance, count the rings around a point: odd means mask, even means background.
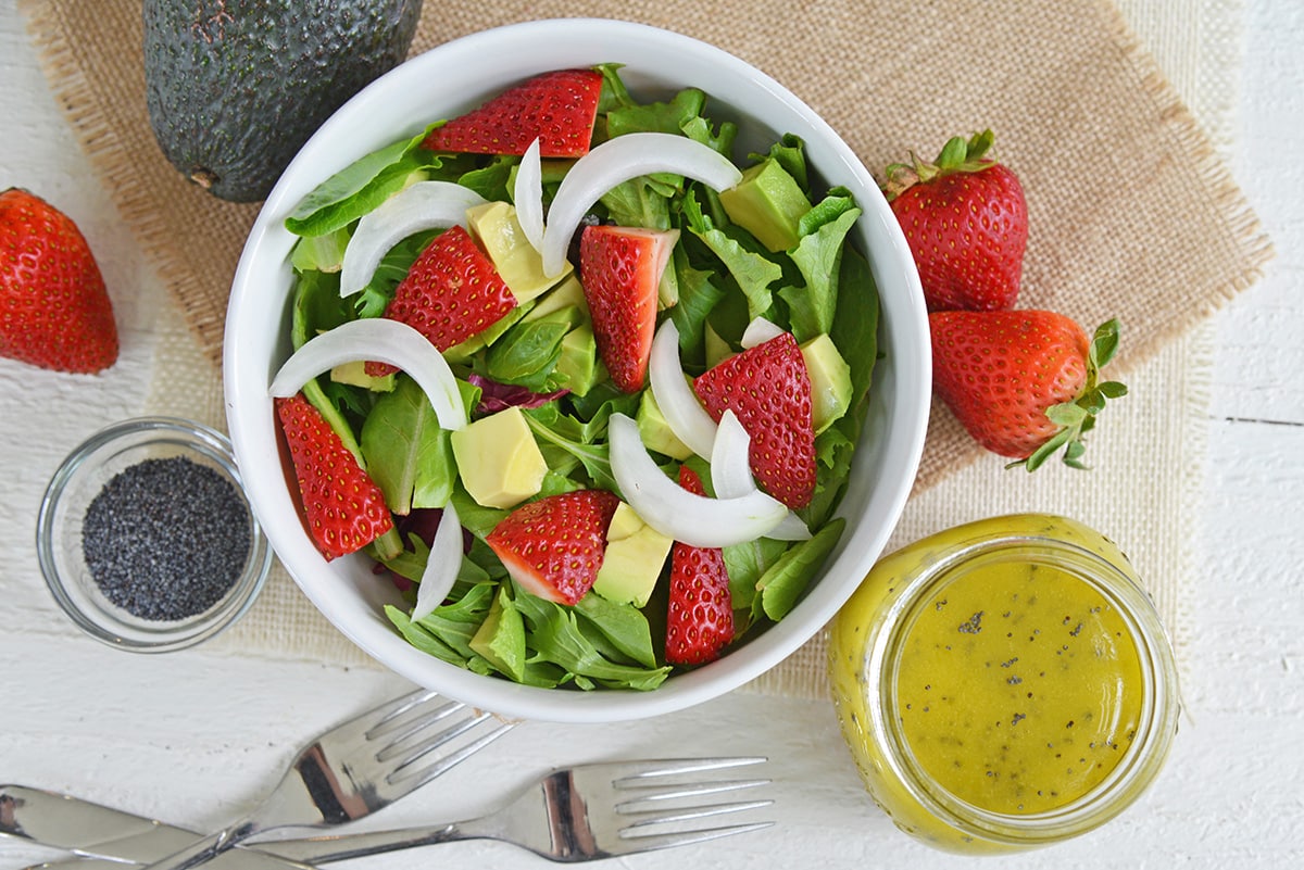
[[[1055,563],[1103,595],[1123,617],[1141,666],[1140,728],[1108,775],[1085,793],[1051,810],[1001,813],[977,806],[936,783],[914,758],[897,712],[897,671],[904,639],[922,607],[968,568],[995,559]],[[889,738],[885,762],[911,797],[939,819],[975,837],[1009,844],[1060,840],[1091,830],[1118,815],[1158,772],[1176,731],[1179,712],[1176,664],[1159,615],[1140,583],[1103,555],[1073,542],[1038,534],[1004,534],[969,540],[940,554],[910,578],[883,615],[882,630],[868,650],[868,685],[878,685],[871,727]]]

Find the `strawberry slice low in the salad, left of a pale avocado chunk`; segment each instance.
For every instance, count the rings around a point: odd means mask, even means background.
[[[619,499],[605,490],[549,495],[512,511],[485,542],[526,591],[574,604],[602,567],[617,504]]]

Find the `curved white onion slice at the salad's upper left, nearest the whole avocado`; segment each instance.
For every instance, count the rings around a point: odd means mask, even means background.
[[[391,247],[424,229],[466,225],[467,208],[485,198],[451,181],[417,181],[398,191],[357,221],[344,247],[339,294],[352,296],[372,280]]]

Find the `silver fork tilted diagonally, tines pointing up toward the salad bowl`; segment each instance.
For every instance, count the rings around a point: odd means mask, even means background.
[[[462,749],[426,762],[439,746],[472,728],[490,729]],[[438,731],[432,731],[439,725]],[[149,865],[184,870],[249,837],[279,827],[326,827],[370,815],[439,776],[512,723],[417,690],[340,723],[299,751],[280,783],[245,818]]]

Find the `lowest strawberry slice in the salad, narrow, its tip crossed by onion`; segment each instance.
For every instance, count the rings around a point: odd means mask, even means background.
[[[679,486],[705,495],[696,473],[679,466]],[[733,639],[733,599],[724,554],[716,547],[670,548],[670,606],[665,617],[665,660],[704,664]]]

